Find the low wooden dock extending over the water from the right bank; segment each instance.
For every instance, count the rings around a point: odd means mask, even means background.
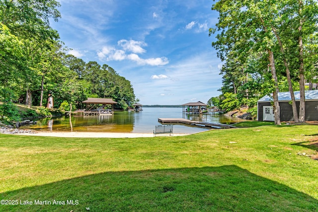
[[[215,129],[237,128],[232,125],[214,124],[209,122],[198,122],[198,121],[191,121],[188,119],[181,119],[181,118],[159,118],[158,122],[161,124],[185,124],[185,125],[194,125],[197,127],[215,128]]]

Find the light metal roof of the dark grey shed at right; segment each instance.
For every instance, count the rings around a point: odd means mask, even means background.
[[[300,100],[299,91],[294,92],[296,101]],[[306,100],[318,100],[318,90],[305,90],[305,99]],[[278,101],[291,101],[292,98],[290,96],[290,92],[279,92],[278,93]],[[273,101],[273,94],[263,96],[257,102],[270,102]]]

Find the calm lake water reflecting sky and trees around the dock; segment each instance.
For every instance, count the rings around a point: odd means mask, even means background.
[[[195,121],[232,124],[236,121],[219,114],[184,114],[183,108],[143,108],[141,112],[115,111],[114,115],[72,116],[73,132],[153,133],[158,118],[185,118]],[[38,120],[37,125],[25,126],[33,130],[71,131],[68,116]],[[174,125],[174,133],[197,133],[207,129]]]

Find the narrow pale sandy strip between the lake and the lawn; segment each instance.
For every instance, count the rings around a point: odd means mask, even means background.
[[[37,132],[37,133],[17,133],[23,136],[49,136],[65,138],[144,138],[154,137],[152,133],[96,133],[96,132]],[[173,134],[173,136],[186,136],[190,134]],[[160,135],[161,136],[161,135]],[[163,135],[162,135],[163,136]],[[164,135],[169,136],[169,135]]]

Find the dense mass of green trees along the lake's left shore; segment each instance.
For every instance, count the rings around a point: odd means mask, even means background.
[[[96,96],[113,98],[117,107],[127,108],[135,101],[129,80],[107,65],[65,55],[49,22],[60,17],[58,6],[56,0],[0,1],[0,88],[14,92],[10,99],[25,95],[28,106],[42,106],[45,94],[52,94],[58,104],[82,107],[88,96]]]

